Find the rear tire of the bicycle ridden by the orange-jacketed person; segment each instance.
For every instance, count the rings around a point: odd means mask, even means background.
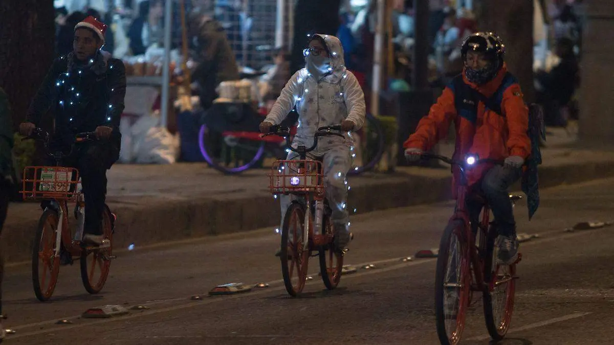
[[[496,275],[499,276],[499,265],[494,261],[496,252],[495,252],[495,239],[497,238],[497,231],[491,227],[490,231],[488,231],[488,237],[486,242],[486,252],[484,257],[484,282],[488,284],[488,290],[484,290],[482,293],[482,300],[484,306],[484,320],[486,321],[486,328],[488,328],[488,333],[494,341],[500,341],[505,337],[505,334],[510,329],[511,316],[514,312],[514,302],[516,295],[516,264],[508,265],[508,274],[504,275],[503,279],[509,279],[507,281],[505,290],[505,304],[503,306],[503,310],[501,311],[501,319],[499,321],[495,320],[495,311],[493,310],[494,304],[492,303],[492,294],[491,287],[494,285],[494,282],[491,283],[492,277]],[[493,267],[493,263],[495,266]],[[494,268],[494,270],[493,270]]]

